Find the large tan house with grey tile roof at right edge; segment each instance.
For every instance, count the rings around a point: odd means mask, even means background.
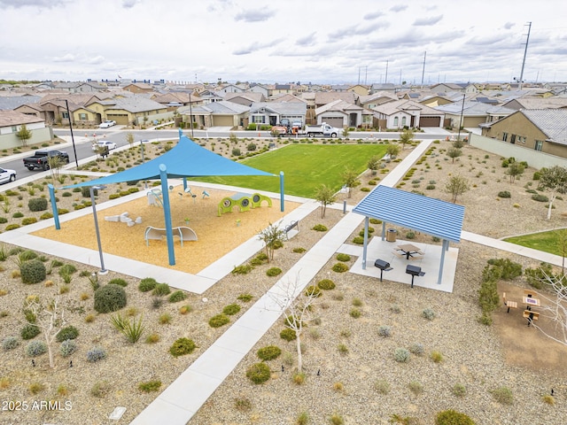
[[[483,126],[482,135],[567,158],[567,108],[524,109]]]

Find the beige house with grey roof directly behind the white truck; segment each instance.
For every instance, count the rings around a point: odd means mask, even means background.
[[[364,113],[364,108],[358,104],[349,104],[341,99],[315,109],[317,124],[326,122],[335,128],[370,128],[372,127],[372,114],[371,111]]]

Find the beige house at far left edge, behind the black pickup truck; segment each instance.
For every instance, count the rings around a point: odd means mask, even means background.
[[[0,111],[0,149],[16,148],[22,145],[17,133],[25,125],[32,137],[28,145],[49,142],[53,139],[50,127],[45,127],[45,121],[33,115],[15,111]]]

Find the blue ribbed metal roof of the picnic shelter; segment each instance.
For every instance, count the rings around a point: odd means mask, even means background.
[[[461,240],[464,206],[440,199],[379,185],[353,212],[451,242]]]

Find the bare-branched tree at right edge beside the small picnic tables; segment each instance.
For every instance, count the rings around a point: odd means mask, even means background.
[[[543,316],[553,321],[557,333],[552,335],[533,321],[532,325],[548,338],[559,344],[567,345],[567,276],[548,274],[543,269],[541,269],[541,274],[543,275],[541,282],[551,291],[551,295],[548,296],[542,291],[538,293],[539,297],[545,300],[544,303],[541,303],[540,317]]]

